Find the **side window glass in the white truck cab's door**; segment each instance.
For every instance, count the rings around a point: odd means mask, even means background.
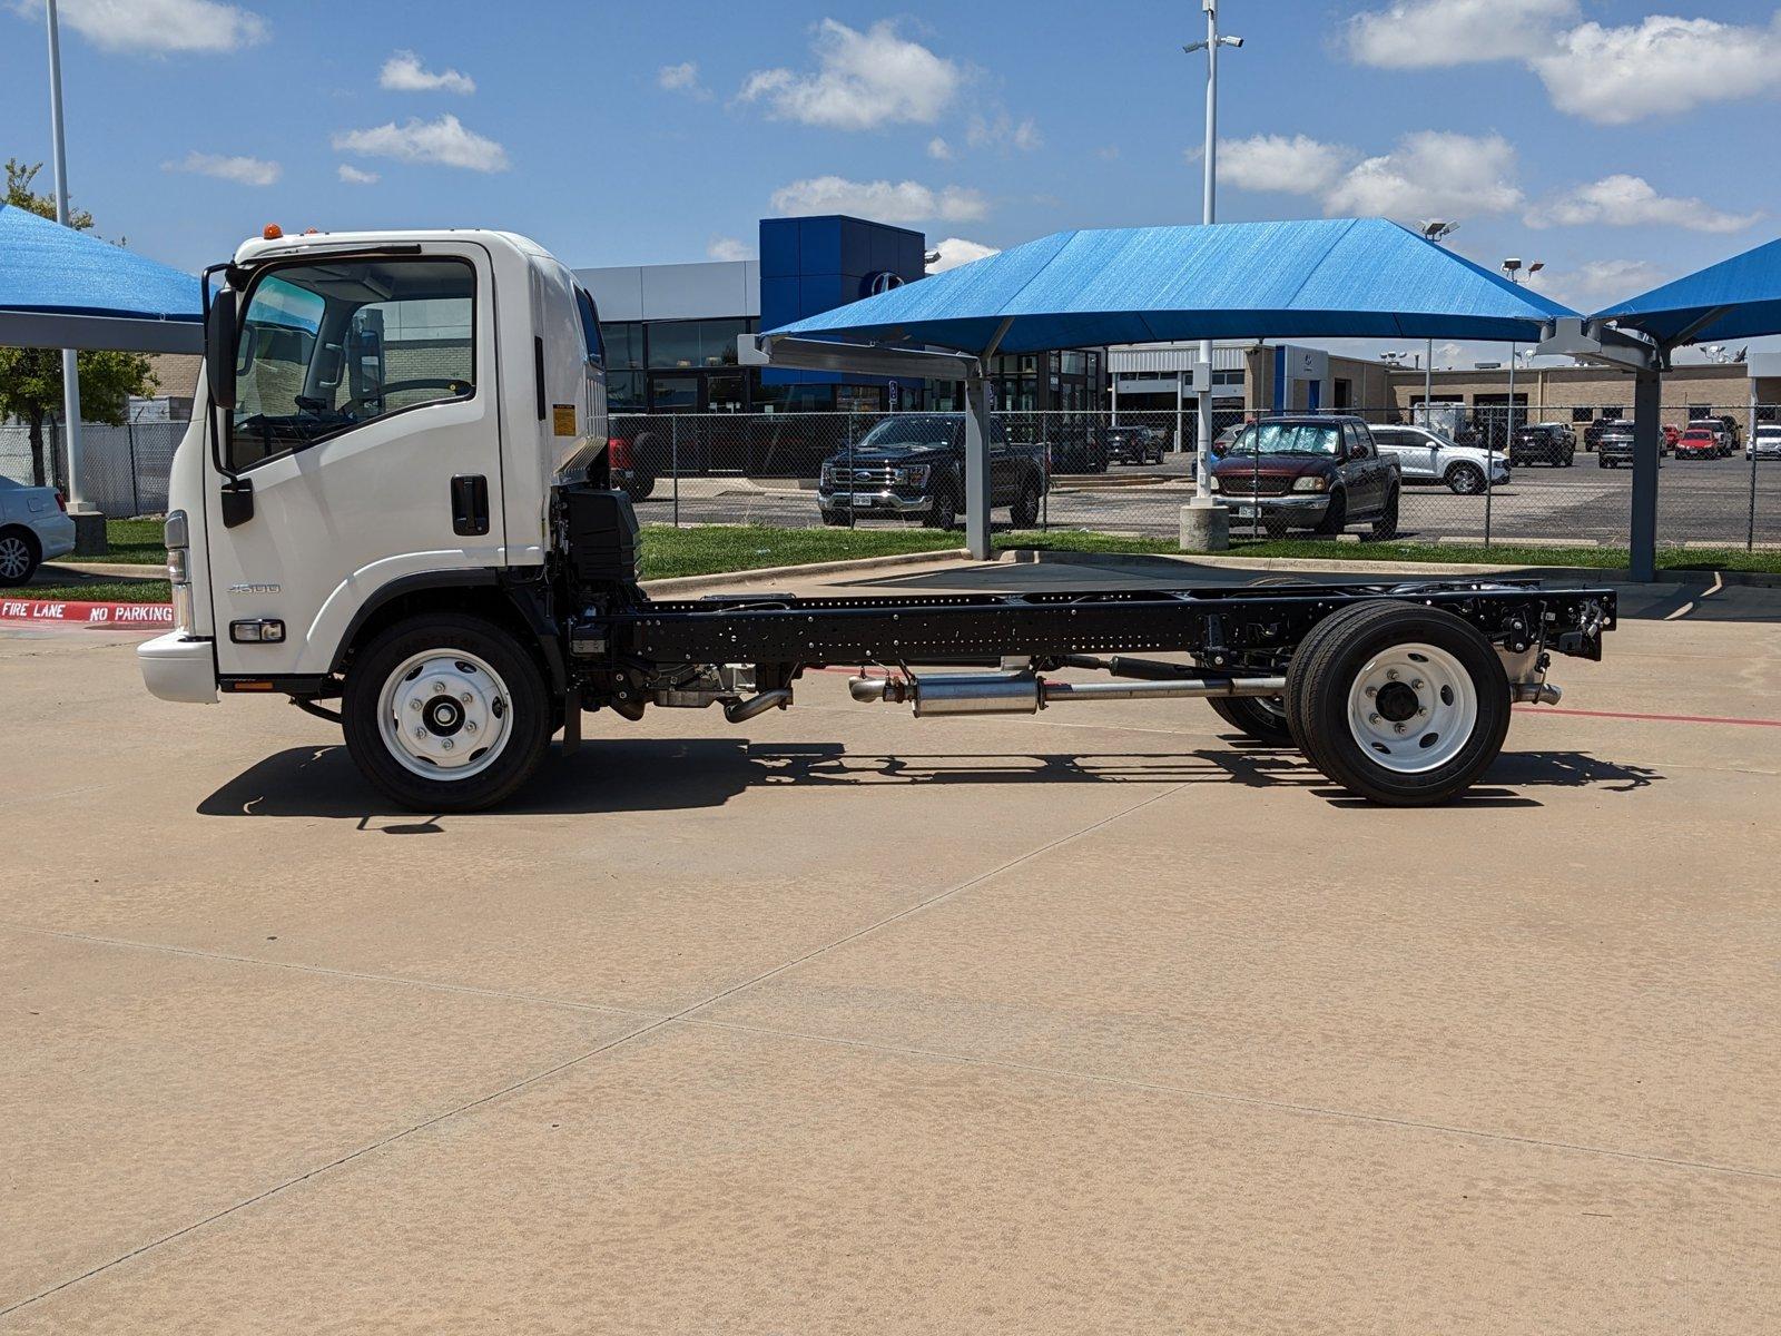
[[[474,394],[468,262],[281,267],[249,289],[230,463],[248,468],[379,417]]]

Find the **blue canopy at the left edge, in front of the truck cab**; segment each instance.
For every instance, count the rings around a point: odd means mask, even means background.
[[[0,346],[203,349],[198,278],[0,205]]]

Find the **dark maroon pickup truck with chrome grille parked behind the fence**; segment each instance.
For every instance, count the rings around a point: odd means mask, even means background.
[[[1338,534],[1370,522],[1375,538],[1398,533],[1403,474],[1366,422],[1338,413],[1277,417],[1243,428],[1213,465],[1211,490],[1240,520],[1272,536],[1289,529]]]

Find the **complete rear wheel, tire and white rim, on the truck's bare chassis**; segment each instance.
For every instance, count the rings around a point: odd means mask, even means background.
[[[1464,793],[1509,732],[1509,679],[1491,641],[1416,604],[1366,602],[1322,622],[1293,656],[1286,698],[1311,764],[1393,807]]]

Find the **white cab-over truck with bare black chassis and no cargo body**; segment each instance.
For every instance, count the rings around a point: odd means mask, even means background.
[[[1557,700],[1553,654],[1598,659],[1614,627],[1608,590],[1476,579],[654,600],[611,486],[598,314],[534,242],[269,228],[205,290],[169,486],[176,629],[141,647],[142,677],[337,720],[415,809],[499,803],[584,713],[744,721],[828,664],[917,716],[1204,697],[1359,794],[1430,803],[1489,766],[1512,702]]]

